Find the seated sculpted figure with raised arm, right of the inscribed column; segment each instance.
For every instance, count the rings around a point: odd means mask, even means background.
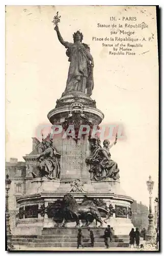
[[[105,180],[112,178],[117,180],[120,178],[119,168],[115,161],[111,159],[110,148],[115,145],[117,139],[110,145],[110,141],[104,140],[103,147],[100,145],[100,140],[96,139],[94,150],[86,162],[90,164],[89,172],[92,174],[92,180]]]

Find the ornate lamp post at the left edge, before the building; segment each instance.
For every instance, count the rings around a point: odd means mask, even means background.
[[[7,250],[13,249],[13,245],[11,243],[12,233],[10,230],[10,214],[9,214],[9,190],[11,185],[11,180],[9,179],[9,175],[6,175],[6,236],[7,236]]]

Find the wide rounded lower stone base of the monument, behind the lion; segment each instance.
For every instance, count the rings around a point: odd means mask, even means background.
[[[28,195],[20,197],[17,202],[20,204],[20,218],[15,228],[15,234],[39,235],[43,228],[59,228],[61,225],[60,217],[53,219],[54,212],[58,211],[58,206],[63,200],[64,195],[70,193],[80,205],[84,198],[95,199],[103,205],[99,205],[111,215],[103,228],[111,225],[116,235],[129,235],[133,224],[131,223],[130,205],[133,202],[131,197],[125,195],[120,187],[119,181],[108,179],[101,182],[79,182],[47,180],[45,178],[35,178],[28,190]],[[57,208],[56,208],[57,205]],[[111,206],[113,212],[111,214]],[[48,207],[53,207],[52,214],[48,214]],[[44,208],[44,210],[43,210]],[[47,211],[45,210],[47,208]],[[22,213],[22,216],[21,216]],[[107,215],[101,214],[102,221]],[[75,222],[66,223],[67,228],[75,227]],[[80,226],[83,223],[80,221]],[[98,224],[99,225],[99,224]],[[91,227],[96,228],[94,221]]]

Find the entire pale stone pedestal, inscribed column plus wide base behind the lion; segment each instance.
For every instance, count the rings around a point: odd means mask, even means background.
[[[116,236],[129,235],[133,227],[129,215],[132,198],[126,196],[121,189],[120,180],[115,181],[111,178],[102,181],[91,180],[90,167],[86,164],[86,158],[91,155],[89,140],[91,131],[94,125],[98,126],[101,123],[103,117],[103,113],[96,109],[96,102],[84,93],[63,94],[57,100],[56,108],[48,113],[48,119],[52,125],[62,127],[60,134],[56,133],[52,136],[53,147],[61,154],[61,176],[57,180],[33,179],[27,194],[17,199],[23,217],[19,219],[15,229],[16,234],[40,235],[43,228],[58,229],[59,222],[48,215],[48,207],[52,204],[60,205],[64,195],[71,193],[78,204],[85,196],[101,200],[103,208],[106,208],[111,215],[106,223],[103,222],[103,227],[111,225]],[[74,126],[74,137],[70,134],[64,137],[69,125]],[[89,131],[78,137],[80,125],[87,125]],[[112,214],[111,205],[114,209]],[[26,214],[27,209],[34,212]],[[103,215],[102,220],[104,219],[106,217]],[[91,226],[95,227],[95,225],[94,221]],[[74,226],[73,222],[67,223],[66,229]]]

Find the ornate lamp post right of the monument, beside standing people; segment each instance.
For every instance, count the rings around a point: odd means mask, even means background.
[[[146,182],[148,191],[149,191],[149,225],[147,231],[147,241],[151,241],[154,237],[154,225],[153,225],[153,214],[152,214],[152,190],[154,186],[154,181],[152,181],[151,176],[149,176],[149,180]]]

